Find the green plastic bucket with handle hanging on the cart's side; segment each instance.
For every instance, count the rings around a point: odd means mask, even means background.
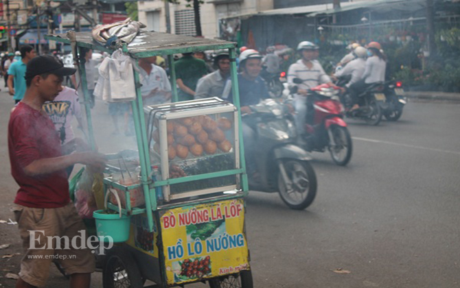
[[[117,198],[119,214],[106,214],[104,210],[93,212],[93,217],[96,220],[97,236],[104,237],[104,241],[124,242],[129,239],[130,231],[130,216],[122,215],[122,206],[117,193],[108,189],[104,204],[107,207],[108,195],[113,193]],[[110,239],[112,237],[112,239]]]

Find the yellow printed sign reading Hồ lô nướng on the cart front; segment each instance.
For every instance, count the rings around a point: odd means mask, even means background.
[[[174,208],[160,221],[168,285],[249,269],[242,199]]]

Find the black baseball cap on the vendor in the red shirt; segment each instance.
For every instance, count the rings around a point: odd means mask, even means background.
[[[77,69],[64,67],[64,64],[50,55],[41,55],[32,58],[25,69],[25,79],[36,75],[51,73],[58,76],[73,75]]]

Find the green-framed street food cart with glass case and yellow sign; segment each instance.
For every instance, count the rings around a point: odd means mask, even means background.
[[[79,59],[77,77],[87,115],[85,130],[95,149],[80,52],[82,48],[108,53],[115,49],[96,43],[89,32],[46,38],[71,44],[74,58]],[[141,31],[133,42],[117,48],[135,60],[135,95],[129,103],[137,149],[109,156],[109,164],[118,161],[119,169],[108,165],[104,173],[107,208],[96,211],[95,216],[99,213],[98,218],[107,221],[96,221],[97,235],[119,242],[106,251],[104,287],[143,287],[146,280],[156,283],[155,287],[196,282],[210,287],[253,287],[244,221],[248,182],[235,44]],[[234,104],[217,97],[177,102],[174,54],[217,49],[229,51]],[[143,104],[137,60],[151,56],[168,56],[171,104]],[[136,160],[130,161],[132,158]],[[129,171],[128,166],[136,161],[140,169]],[[126,180],[126,172],[130,180]],[[126,232],[118,226],[122,220],[128,223]]]

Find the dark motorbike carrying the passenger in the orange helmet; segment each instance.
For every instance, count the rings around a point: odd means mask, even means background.
[[[337,86],[345,86],[346,80],[339,79]],[[358,95],[359,108],[349,110],[352,106],[352,97],[349,93],[344,93],[341,98],[345,105],[345,116],[352,119],[362,119],[369,125],[378,125],[382,121],[382,106],[386,101],[384,95],[384,84],[375,83],[367,87],[360,95]]]

